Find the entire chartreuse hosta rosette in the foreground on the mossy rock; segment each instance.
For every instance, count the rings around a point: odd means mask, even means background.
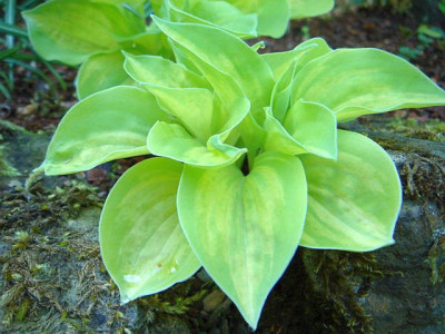
[[[122,302],[202,266],[255,328],[299,245],[366,252],[394,243],[396,168],[337,122],[445,105],[444,90],[377,49],[312,39],[258,55],[219,28],[154,20],[176,61],[126,53],[138,87],[72,107],[43,164],[59,175],[158,156],[121,176],[100,218],[102,258]]]

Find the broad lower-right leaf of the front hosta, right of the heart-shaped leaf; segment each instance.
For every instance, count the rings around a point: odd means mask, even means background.
[[[339,130],[337,161],[313,155],[301,161],[309,191],[301,246],[365,252],[394,243],[402,189],[382,147]]]

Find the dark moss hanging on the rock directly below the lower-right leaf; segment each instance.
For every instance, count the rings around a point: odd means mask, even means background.
[[[372,253],[304,249],[312,304],[320,320],[318,326],[330,333],[369,333],[372,317],[360,305],[373,279],[382,277]]]

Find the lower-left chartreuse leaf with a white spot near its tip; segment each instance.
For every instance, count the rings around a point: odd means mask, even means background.
[[[123,303],[189,278],[200,267],[178,222],[182,165],[165,158],[127,170],[100,217],[100,250]]]

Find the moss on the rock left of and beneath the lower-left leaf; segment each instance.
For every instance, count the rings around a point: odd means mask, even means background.
[[[98,328],[129,333],[150,322],[190,326],[208,286],[191,278],[119,306],[118,289],[106,273],[98,244],[96,226],[103,199],[76,177],[57,181],[51,190],[38,183],[29,193],[20,187],[1,193],[2,326],[9,333],[97,333]],[[138,312],[145,313],[139,324],[135,323]],[[129,314],[134,314],[131,324]]]

